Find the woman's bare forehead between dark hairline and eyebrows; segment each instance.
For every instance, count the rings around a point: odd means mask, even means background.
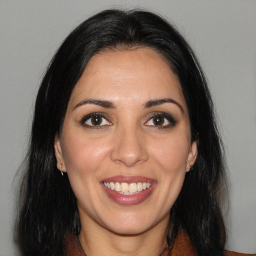
[[[92,56],[74,87],[69,104],[75,105],[86,98],[124,104],[166,97],[186,105],[170,65],[160,53],[144,47],[105,50]]]

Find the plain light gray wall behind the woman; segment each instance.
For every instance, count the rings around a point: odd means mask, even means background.
[[[208,78],[230,174],[226,248],[256,252],[255,0],[0,0],[0,256],[13,242],[16,181],[33,102],[47,63],[68,32],[113,5],[172,20]],[[16,179],[18,180],[18,179]]]

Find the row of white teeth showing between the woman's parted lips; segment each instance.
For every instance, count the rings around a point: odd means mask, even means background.
[[[149,188],[152,184],[146,182],[126,183],[126,182],[103,182],[104,186],[115,190],[121,194],[135,194]]]

